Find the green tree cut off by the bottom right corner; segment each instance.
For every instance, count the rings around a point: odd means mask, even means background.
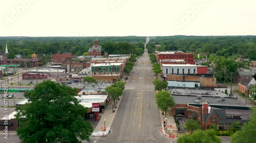
[[[256,108],[252,109],[250,120],[244,124],[241,131],[237,131],[231,137],[231,143],[251,143],[256,141]]]

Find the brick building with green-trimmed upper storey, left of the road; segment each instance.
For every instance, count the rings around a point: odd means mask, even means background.
[[[115,82],[123,76],[123,63],[95,64],[91,70],[98,82]]]

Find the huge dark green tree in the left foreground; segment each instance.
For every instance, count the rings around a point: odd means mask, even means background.
[[[17,135],[22,142],[81,142],[93,127],[84,122],[88,109],[79,104],[77,90],[50,80],[25,92],[28,103],[17,109]]]

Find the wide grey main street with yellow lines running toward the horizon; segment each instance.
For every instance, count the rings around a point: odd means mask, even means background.
[[[111,126],[111,132],[101,142],[170,142],[160,132],[160,112],[155,103],[149,56],[145,52],[134,66]],[[148,78],[148,79],[147,79]]]

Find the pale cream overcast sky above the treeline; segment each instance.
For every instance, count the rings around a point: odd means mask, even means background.
[[[0,36],[256,35],[256,1],[0,1]]]

